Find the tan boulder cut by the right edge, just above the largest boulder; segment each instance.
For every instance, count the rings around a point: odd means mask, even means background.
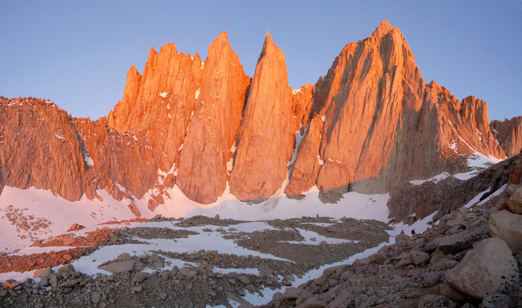
[[[489,233],[492,238],[506,242],[513,254],[522,252],[522,215],[499,210],[489,216]]]

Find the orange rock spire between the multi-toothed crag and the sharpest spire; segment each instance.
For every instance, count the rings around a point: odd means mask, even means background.
[[[177,185],[186,196],[212,203],[225,190],[232,151],[250,78],[232,51],[227,33],[210,45],[194,115],[179,159]]]

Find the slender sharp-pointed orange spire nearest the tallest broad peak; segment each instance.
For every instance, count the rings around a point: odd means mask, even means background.
[[[291,95],[285,56],[267,33],[239,128],[230,174],[230,192],[237,199],[268,198],[283,184],[294,144]]]

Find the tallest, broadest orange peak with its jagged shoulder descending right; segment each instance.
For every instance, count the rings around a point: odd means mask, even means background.
[[[460,102],[435,82],[424,84],[405,38],[388,22],[346,45],[315,85],[310,118],[287,194],[350,184],[386,192],[407,178],[454,170],[459,155],[505,157],[486,103]]]

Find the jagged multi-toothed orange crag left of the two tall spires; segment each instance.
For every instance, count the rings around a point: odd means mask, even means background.
[[[156,164],[165,172],[177,162],[195,110],[202,67],[198,54],[178,53],[172,43],[159,54],[151,48],[143,75],[130,68],[124,96],[107,116],[111,130],[147,136]]]

